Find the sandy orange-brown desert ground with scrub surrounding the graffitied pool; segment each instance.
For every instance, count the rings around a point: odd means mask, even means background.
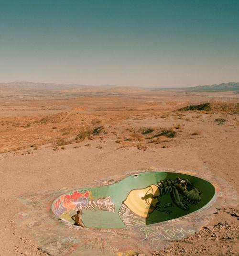
[[[208,103],[205,110],[178,111]],[[166,131],[164,135],[157,134]],[[149,136],[148,134],[152,134]],[[23,193],[142,168],[210,172],[239,192],[239,94],[134,88],[0,95],[0,256],[45,255],[17,223]],[[239,255],[239,208],[151,255]]]

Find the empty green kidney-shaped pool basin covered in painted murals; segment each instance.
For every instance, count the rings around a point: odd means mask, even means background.
[[[118,183],[69,191],[52,204],[54,215],[74,224],[80,210],[88,228],[126,228],[160,223],[204,207],[214,186],[195,176],[174,172],[143,172]]]

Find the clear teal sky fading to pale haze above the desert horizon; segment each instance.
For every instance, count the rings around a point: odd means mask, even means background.
[[[0,0],[0,82],[239,82],[239,0]]]

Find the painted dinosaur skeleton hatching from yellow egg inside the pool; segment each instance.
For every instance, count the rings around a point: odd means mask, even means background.
[[[157,185],[150,185],[144,189],[133,189],[119,209],[120,219],[126,226],[141,226],[147,223],[147,219],[153,211],[161,211],[173,207],[171,203],[160,204],[160,197],[170,194],[174,204],[182,210],[189,211],[188,204],[197,204],[201,200],[201,193],[188,179],[166,179]]]

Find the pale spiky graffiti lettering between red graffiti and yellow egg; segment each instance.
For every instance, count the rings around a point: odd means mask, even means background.
[[[96,211],[115,211],[115,205],[111,202],[110,197],[99,198],[97,201],[90,200],[87,206],[82,206],[86,210]]]

